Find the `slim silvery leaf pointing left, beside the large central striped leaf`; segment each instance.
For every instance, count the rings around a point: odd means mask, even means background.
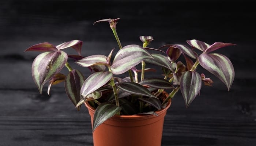
[[[107,57],[104,55],[91,55],[80,59],[75,62],[76,64],[84,67],[93,66],[93,65],[107,65]]]

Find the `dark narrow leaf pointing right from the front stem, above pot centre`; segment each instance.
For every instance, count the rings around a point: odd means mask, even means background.
[[[148,91],[146,87],[143,87],[142,85],[136,82],[121,82],[116,86],[122,89],[123,91],[131,94],[155,97],[154,95],[152,95],[150,91]]]

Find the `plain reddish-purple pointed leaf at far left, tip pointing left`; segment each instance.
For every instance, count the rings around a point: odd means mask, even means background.
[[[33,45],[31,47],[29,47],[26,51],[41,51],[41,52],[45,52],[45,51],[58,51],[58,49],[48,43],[48,42],[44,42],[44,43],[39,43],[39,44],[36,44],[36,45]]]

